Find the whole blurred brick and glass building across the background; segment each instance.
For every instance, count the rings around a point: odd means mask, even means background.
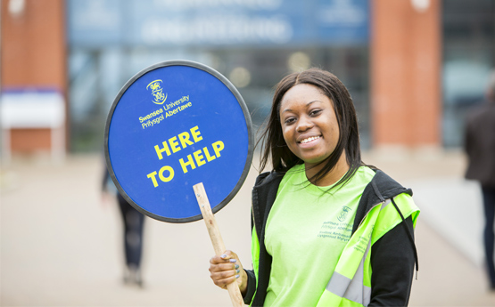
[[[459,147],[495,67],[493,0],[2,0],[1,17],[4,157],[102,149],[120,88],[177,59],[229,78],[255,125],[317,66],[350,89],[365,149]]]

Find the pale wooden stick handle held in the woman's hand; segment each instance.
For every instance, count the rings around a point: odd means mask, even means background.
[[[220,234],[217,220],[215,220],[215,215],[213,215],[213,213],[211,212],[210,201],[208,201],[208,197],[206,196],[206,191],[204,190],[202,182],[194,185],[193,189],[201,209],[202,219],[204,220],[206,229],[210,234],[211,244],[213,245],[215,254],[223,254],[225,252],[224,241],[222,239],[222,235]],[[237,282],[228,284],[227,290],[228,295],[230,295],[232,305],[234,307],[242,307],[244,305],[243,295],[241,295],[241,290],[239,290]]]

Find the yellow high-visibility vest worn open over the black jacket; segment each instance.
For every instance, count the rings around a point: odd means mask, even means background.
[[[374,179],[363,192],[361,201],[365,200],[363,205],[367,211],[363,211],[359,218],[356,217],[352,236],[342,250],[334,273],[329,277],[326,289],[318,301],[318,307],[367,306],[371,300],[372,270],[370,259],[372,246],[385,233],[404,222],[409,216],[412,219],[413,227],[416,227],[419,208],[410,197],[412,192],[401,187],[397,182],[395,182],[397,184],[393,184],[393,187],[389,186],[390,180],[390,177],[383,172],[376,171]],[[376,198],[374,199],[376,200],[369,201],[365,198],[368,189],[372,191],[371,193],[375,193]],[[382,194],[381,190],[386,190],[385,195]],[[361,201],[359,206],[361,206]],[[253,221],[255,221],[254,213],[252,212],[252,214]],[[260,240],[258,235],[256,226],[253,226],[252,268],[256,278],[256,289],[259,286],[260,269]],[[411,244],[414,245],[413,238],[409,238]],[[416,246],[414,249],[416,253]],[[415,257],[417,261],[417,254]]]

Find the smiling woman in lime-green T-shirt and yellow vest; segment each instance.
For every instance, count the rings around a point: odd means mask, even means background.
[[[408,304],[419,210],[411,190],[361,161],[351,95],[309,69],[276,87],[252,191],[252,264],[210,259],[219,287],[237,280],[252,306]],[[373,272],[373,274],[372,274]]]

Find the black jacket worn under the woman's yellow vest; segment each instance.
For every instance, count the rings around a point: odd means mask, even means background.
[[[248,289],[244,296],[244,303],[252,303],[252,306],[263,306],[267,294],[272,257],[268,254],[264,244],[265,226],[268,213],[275,202],[276,191],[283,177],[284,174],[276,172],[260,174],[252,189],[252,226],[256,227],[260,241],[258,288],[256,288],[254,271],[245,270],[248,275]],[[371,206],[401,193],[408,193],[412,196],[411,190],[405,189],[382,171],[376,171],[374,178],[368,183],[359,201],[352,233],[358,229],[359,222]],[[395,206],[395,204],[393,205]],[[408,305],[415,261],[417,263],[413,233],[413,222],[409,216],[372,246],[371,266],[373,274],[371,277],[371,302],[368,306]],[[255,292],[256,295],[254,295]]]

